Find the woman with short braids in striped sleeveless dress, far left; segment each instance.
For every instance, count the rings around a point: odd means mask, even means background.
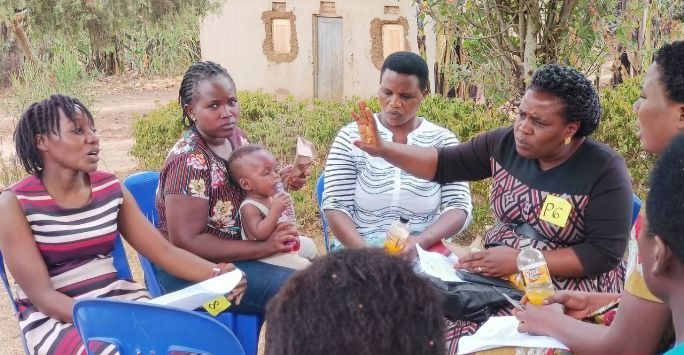
[[[14,138],[32,176],[0,194],[0,250],[16,282],[17,317],[31,354],[85,353],[72,324],[76,300],[149,299],[145,287],[117,275],[111,253],[119,231],[156,265],[193,282],[234,269],[164,241],[116,176],[97,171],[93,116],[77,99],[52,95],[33,103]],[[244,288],[243,282],[238,302]],[[102,343],[91,350],[116,352]]]

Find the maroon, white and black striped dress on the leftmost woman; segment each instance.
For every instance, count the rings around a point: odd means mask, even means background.
[[[19,199],[55,290],[74,299],[148,300],[147,290],[117,276],[113,258],[117,216],[123,202],[116,176],[90,174],[92,196],[80,208],[59,206],[40,179],[31,176],[9,187]],[[19,326],[31,354],[85,354],[71,323],[41,313],[18,285]],[[117,353],[111,345],[91,345],[96,354]]]

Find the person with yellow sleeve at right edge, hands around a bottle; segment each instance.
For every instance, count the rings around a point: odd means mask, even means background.
[[[641,98],[634,103],[637,137],[644,150],[660,154],[684,132],[684,41],[664,45],[648,67]],[[674,343],[670,310],[646,287],[637,240],[642,213],[632,228],[622,294],[557,292],[545,307],[526,306],[519,330],[555,337],[580,354],[653,354]],[[558,304],[564,306],[565,314]],[[600,317],[600,325],[579,319]],[[610,325],[606,327],[605,325]]]

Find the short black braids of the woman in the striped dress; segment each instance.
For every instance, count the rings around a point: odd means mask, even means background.
[[[52,133],[59,136],[59,109],[62,109],[71,122],[76,123],[76,106],[88,117],[90,123],[94,124],[93,115],[81,101],[61,94],[32,103],[21,115],[14,131],[14,141],[17,155],[26,172],[40,176],[43,170],[43,159],[36,145],[36,135]]]

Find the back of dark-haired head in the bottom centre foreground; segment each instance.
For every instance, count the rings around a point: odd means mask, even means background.
[[[267,355],[441,355],[442,305],[411,264],[345,249],[299,271],[266,309]]]

